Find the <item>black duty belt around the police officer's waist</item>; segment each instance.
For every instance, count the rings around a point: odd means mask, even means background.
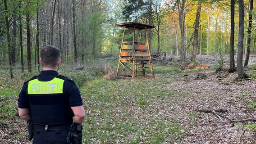
[[[70,125],[34,125],[34,131],[41,131],[41,130],[68,130]]]

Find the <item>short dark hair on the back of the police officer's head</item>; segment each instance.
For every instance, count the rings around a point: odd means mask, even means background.
[[[41,49],[41,62],[43,67],[54,68],[60,58],[60,50],[56,46],[44,45]]]

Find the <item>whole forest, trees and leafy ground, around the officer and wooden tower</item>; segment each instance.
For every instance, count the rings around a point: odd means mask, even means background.
[[[59,73],[82,93],[84,144],[255,144],[253,4],[0,0],[0,143],[32,143],[18,94],[41,71],[42,46],[55,45]],[[128,22],[154,26],[146,30],[153,78],[116,76],[123,36],[116,24]]]

